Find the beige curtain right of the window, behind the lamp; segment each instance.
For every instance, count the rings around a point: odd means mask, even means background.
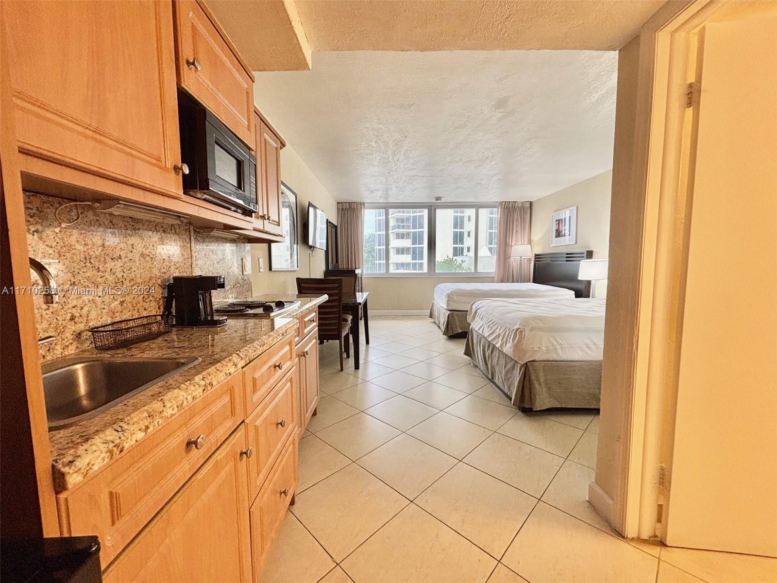
[[[493,281],[531,281],[531,258],[510,259],[514,245],[531,243],[531,203],[500,202],[497,233],[497,269]]]

